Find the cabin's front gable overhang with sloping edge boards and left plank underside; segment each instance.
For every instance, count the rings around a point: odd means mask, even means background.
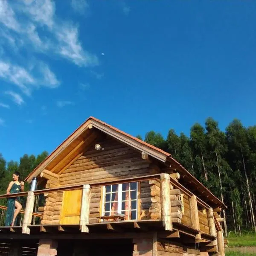
[[[99,119],[90,117],[37,166],[25,180],[30,182],[33,177],[40,175],[44,169],[53,173],[62,173],[82,154],[82,152],[96,141],[101,134],[99,131],[163,163],[166,162],[166,158],[170,156],[170,154],[159,148],[126,134]]]

